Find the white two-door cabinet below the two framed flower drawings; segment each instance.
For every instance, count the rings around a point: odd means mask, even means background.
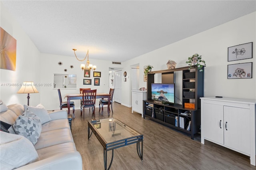
[[[255,157],[255,100],[215,97],[201,99],[201,143],[209,140]]]

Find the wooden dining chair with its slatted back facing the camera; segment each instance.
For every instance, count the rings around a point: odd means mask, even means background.
[[[92,114],[95,116],[95,102],[96,102],[96,89],[95,90],[83,90],[83,105],[82,108],[91,108]],[[82,116],[82,110],[81,110]]]

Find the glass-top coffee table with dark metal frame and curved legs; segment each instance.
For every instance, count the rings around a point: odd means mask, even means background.
[[[138,156],[143,160],[143,134],[136,132],[121,121],[114,118],[88,121],[88,140],[92,135],[90,130],[92,130],[103,146],[105,170],[107,169],[108,150],[112,150],[112,158],[108,167],[109,170],[114,157],[114,149],[130,144],[137,144]]]

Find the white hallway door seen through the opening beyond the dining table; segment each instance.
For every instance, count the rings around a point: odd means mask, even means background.
[[[115,102],[122,103],[122,71],[115,71]]]

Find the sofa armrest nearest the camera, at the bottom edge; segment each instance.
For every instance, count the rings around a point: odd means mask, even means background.
[[[21,166],[17,170],[82,170],[82,157],[79,152],[65,152],[49,158]]]

